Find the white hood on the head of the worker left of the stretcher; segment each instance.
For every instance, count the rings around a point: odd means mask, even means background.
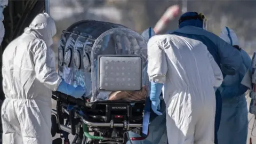
[[[53,44],[52,37],[57,33],[54,20],[47,13],[38,14],[30,23],[28,28],[25,28],[25,33],[35,33],[36,36],[42,38],[47,46]]]

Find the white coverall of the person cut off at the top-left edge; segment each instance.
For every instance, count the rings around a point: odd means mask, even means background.
[[[0,45],[2,44],[3,38],[4,38],[4,8],[8,5],[8,0],[0,0]]]

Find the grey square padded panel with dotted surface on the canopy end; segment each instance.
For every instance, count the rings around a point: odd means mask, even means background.
[[[98,86],[103,91],[141,90],[141,57],[99,55]]]

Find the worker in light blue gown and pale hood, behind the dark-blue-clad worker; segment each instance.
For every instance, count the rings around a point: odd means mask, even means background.
[[[242,56],[246,69],[252,70],[250,56],[239,46],[234,30],[224,27],[220,37],[237,49]],[[222,97],[222,113],[218,131],[219,144],[245,144],[248,132],[248,109],[245,93],[249,89],[241,84],[243,76],[238,73],[227,75],[218,88]]]

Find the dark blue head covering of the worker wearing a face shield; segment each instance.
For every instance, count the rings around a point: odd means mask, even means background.
[[[195,16],[197,14],[198,14],[197,12],[186,12],[182,14],[180,18],[187,17],[187,16]],[[179,28],[182,28],[185,26],[195,26],[195,27],[203,28],[203,21],[199,19],[186,20],[180,23]]]

